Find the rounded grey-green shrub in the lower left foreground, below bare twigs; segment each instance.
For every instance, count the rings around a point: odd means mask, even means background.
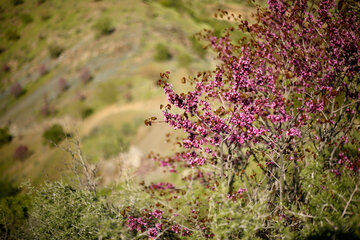
[[[33,190],[31,198],[32,239],[125,239],[119,210],[88,191],[54,182]]]

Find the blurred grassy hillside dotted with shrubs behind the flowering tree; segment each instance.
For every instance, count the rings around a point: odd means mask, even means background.
[[[185,91],[182,77],[215,67],[194,34],[232,24],[217,9],[249,21],[255,11],[246,0],[2,0],[1,181],[61,178],[71,168],[66,136],[80,141],[103,185],[125,173],[166,178],[147,155],[173,152],[168,138],[181,133],[144,120],[162,119],[160,72]]]

